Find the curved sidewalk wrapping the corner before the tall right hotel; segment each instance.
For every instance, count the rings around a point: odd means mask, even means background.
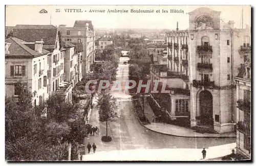
[[[174,136],[182,136],[182,137],[236,137],[236,134],[233,132],[228,133],[217,133],[217,134],[210,134],[210,133],[197,133],[192,129],[171,125],[171,124],[164,124],[164,123],[153,123],[153,110],[148,104],[147,100],[145,100],[145,116],[147,117],[148,121],[151,124],[143,125],[145,128],[151,131],[155,131],[162,134],[167,135],[174,135]],[[155,114],[154,114],[155,115]],[[155,116],[156,117],[156,116]],[[142,124],[141,124],[142,125]]]

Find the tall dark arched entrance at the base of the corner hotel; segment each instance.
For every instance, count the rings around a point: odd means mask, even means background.
[[[199,93],[200,125],[213,128],[212,95],[208,90]]]

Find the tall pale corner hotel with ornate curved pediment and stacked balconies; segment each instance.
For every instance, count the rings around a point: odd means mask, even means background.
[[[186,99],[191,127],[218,133],[234,131],[236,89],[232,78],[238,75],[244,62],[240,50],[241,45],[249,42],[250,29],[235,29],[233,21],[223,22],[220,12],[209,8],[198,8],[188,14],[189,30],[179,31],[177,27],[167,33],[165,73],[168,79],[172,78],[167,85],[189,89]],[[158,77],[152,75],[153,79]],[[180,99],[183,97],[172,101],[172,106]]]

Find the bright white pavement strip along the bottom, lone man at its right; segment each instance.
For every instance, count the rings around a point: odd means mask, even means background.
[[[214,161],[220,160],[222,156],[231,153],[236,143],[222,146],[209,147],[206,150],[206,157],[203,159],[202,149],[131,149],[113,150],[109,152],[98,152],[84,158],[87,161]]]

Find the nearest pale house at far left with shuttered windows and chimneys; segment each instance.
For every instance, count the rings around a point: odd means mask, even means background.
[[[31,91],[34,106],[48,99],[47,58],[49,51],[42,49],[43,43],[43,40],[25,42],[15,37],[6,39],[6,97],[18,97],[20,93],[18,83],[21,83]]]

